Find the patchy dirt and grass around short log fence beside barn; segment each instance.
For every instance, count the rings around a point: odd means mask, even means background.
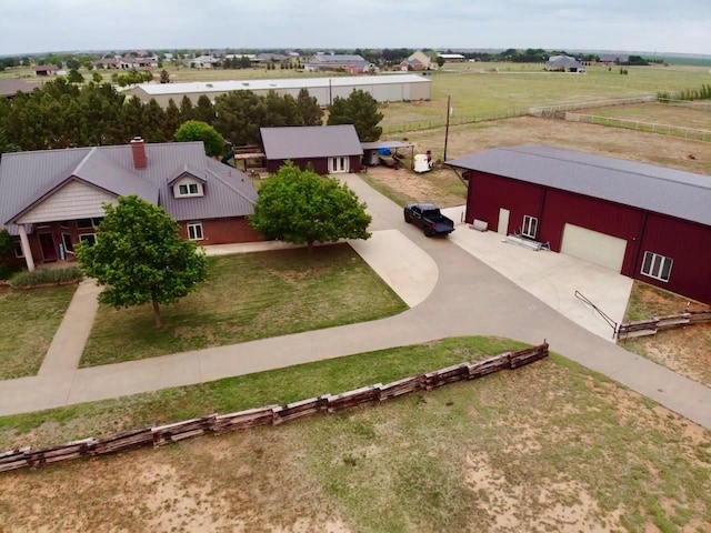
[[[709,305],[689,302],[685,298],[635,282],[628,316],[631,316],[629,320],[641,320],[679,314],[684,311],[709,310],[711,310]],[[653,336],[621,341],[620,345],[681,375],[711,386],[711,324],[662,331]]]

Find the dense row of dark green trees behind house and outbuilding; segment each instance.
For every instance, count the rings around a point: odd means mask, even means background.
[[[214,103],[201,95],[193,104],[188,97],[172,99],[163,109],[127,98],[110,83],[90,81],[79,86],[60,78],[30,94],[17,93],[12,102],[0,100],[0,153],[123,144],[140,135],[147,142],[169,142],[180,125],[197,120],[212,125],[234,145],[261,143],[260,128],[321,125],[323,110],[309,91],[297,98],[270,91],[258,95],[234,91]],[[381,129],[377,102],[363,91],[334,99],[329,124],[353,123],[362,140],[377,140]]]

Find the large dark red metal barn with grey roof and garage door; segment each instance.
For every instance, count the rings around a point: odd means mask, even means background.
[[[711,303],[711,177],[545,147],[450,161],[467,222]]]

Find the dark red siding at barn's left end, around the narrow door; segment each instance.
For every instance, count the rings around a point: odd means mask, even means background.
[[[465,220],[474,219],[489,223],[495,229],[499,221],[499,209],[508,209],[509,233],[514,233],[523,225],[523,215],[539,218],[543,200],[543,188],[522,181],[509,180],[485,172],[465,172],[469,178]],[[539,220],[540,228],[540,220]]]

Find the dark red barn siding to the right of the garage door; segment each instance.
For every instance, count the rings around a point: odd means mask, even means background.
[[[641,273],[645,251],[674,261],[669,282]],[[633,278],[711,303],[711,228],[649,213]]]

